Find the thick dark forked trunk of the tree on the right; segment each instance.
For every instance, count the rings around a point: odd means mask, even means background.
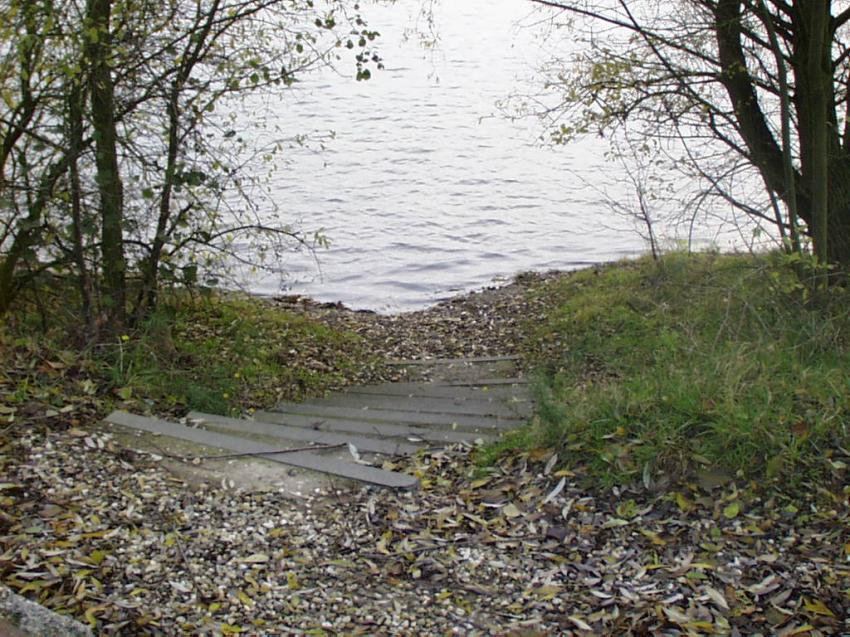
[[[748,157],[768,187],[789,208],[796,207],[808,224],[818,259],[850,266],[850,156],[842,149],[837,130],[830,1],[794,2],[791,65],[800,169],[790,178],[782,147],[770,130],[747,68],[743,10],[741,0],[717,0],[714,6],[718,61],[723,68],[719,80],[734,108]],[[789,187],[792,181],[796,192]]]

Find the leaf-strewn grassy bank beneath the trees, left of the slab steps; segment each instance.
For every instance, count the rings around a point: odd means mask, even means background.
[[[0,326],[0,405],[18,422],[75,404],[234,414],[377,364],[355,333],[241,296],[170,295],[138,329],[97,345],[80,344],[72,309],[48,320],[37,310],[23,306]]]

